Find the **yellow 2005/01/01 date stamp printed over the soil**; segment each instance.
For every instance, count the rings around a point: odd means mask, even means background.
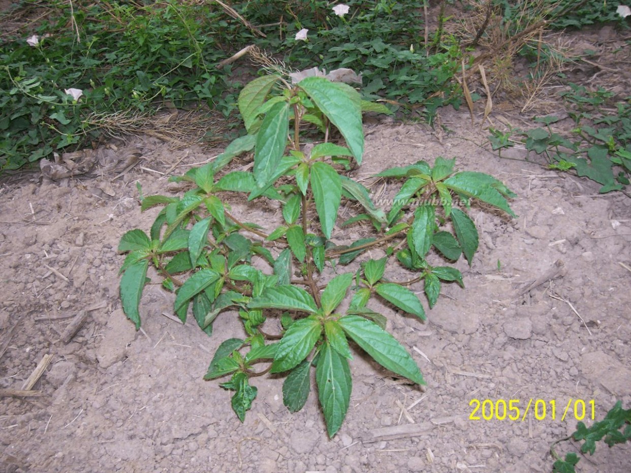
[[[559,404],[562,406],[562,404]],[[557,401],[533,399],[528,401],[525,399],[471,399],[469,407],[473,410],[469,413],[470,421],[491,421],[496,419],[498,421],[525,421],[529,414],[534,415],[534,418],[538,421],[550,419],[551,421],[557,420]],[[565,404],[563,414],[560,418],[561,421],[565,421],[567,416],[574,417],[577,421],[584,419],[594,419],[596,415],[596,403],[594,400],[584,401],[582,399],[570,399]],[[560,412],[560,411],[559,411]]]

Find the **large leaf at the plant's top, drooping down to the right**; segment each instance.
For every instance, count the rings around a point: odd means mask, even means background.
[[[331,120],[346,140],[358,164],[363,156],[362,110],[359,93],[322,77],[307,77],[298,86]]]

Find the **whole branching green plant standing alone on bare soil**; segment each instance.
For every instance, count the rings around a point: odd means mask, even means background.
[[[455,159],[440,157],[433,166],[418,161],[380,173],[403,184],[387,213],[375,206],[369,190],[346,175],[351,160],[362,162],[362,108],[387,112],[326,78],[293,86],[278,75],[255,79],[239,96],[247,135],[177,178],[191,185],[182,197],[144,197],[143,211],[162,207],[150,233],[136,229],[121,238],[119,250],[127,253],[122,307],[136,327],[149,266],[175,293],[174,312],[182,321],[190,310],[211,334],[220,313],[239,314],[245,337],[222,342],[204,378],[230,375],[221,386],[234,392],[232,407],[241,421],[256,398],[251,382],[257,376],[285,374],[283,400],[298,411],[315,367],[327,431],[335,435],[350,401],[351,341],[392,373],[423,384],[415,361],[386,331],[386,317],[371,301],[425,320],[412,288],[422,284],[431,308],[442,283],[463,285],[461,272],[445,260],[464,254],[473,261],[478,233],[466,213],[471,201],[514,215],[505,199],[514,194],[504,184],[483,173],[456,172]],[[228,170],[234,156],[251,150],[252,171]],[[247,201],[279,202],[282,221],[264,228],[233,214],[235,192]],[[374,236],[343,244],[336,234],[343,201],[362,213],[339,225],[369,221]],[[384,248],[385,256],[356,260],[370,248]],[[413,277],[394,279],[389,260]],[[260,363],[268,366],[259,369]]]

